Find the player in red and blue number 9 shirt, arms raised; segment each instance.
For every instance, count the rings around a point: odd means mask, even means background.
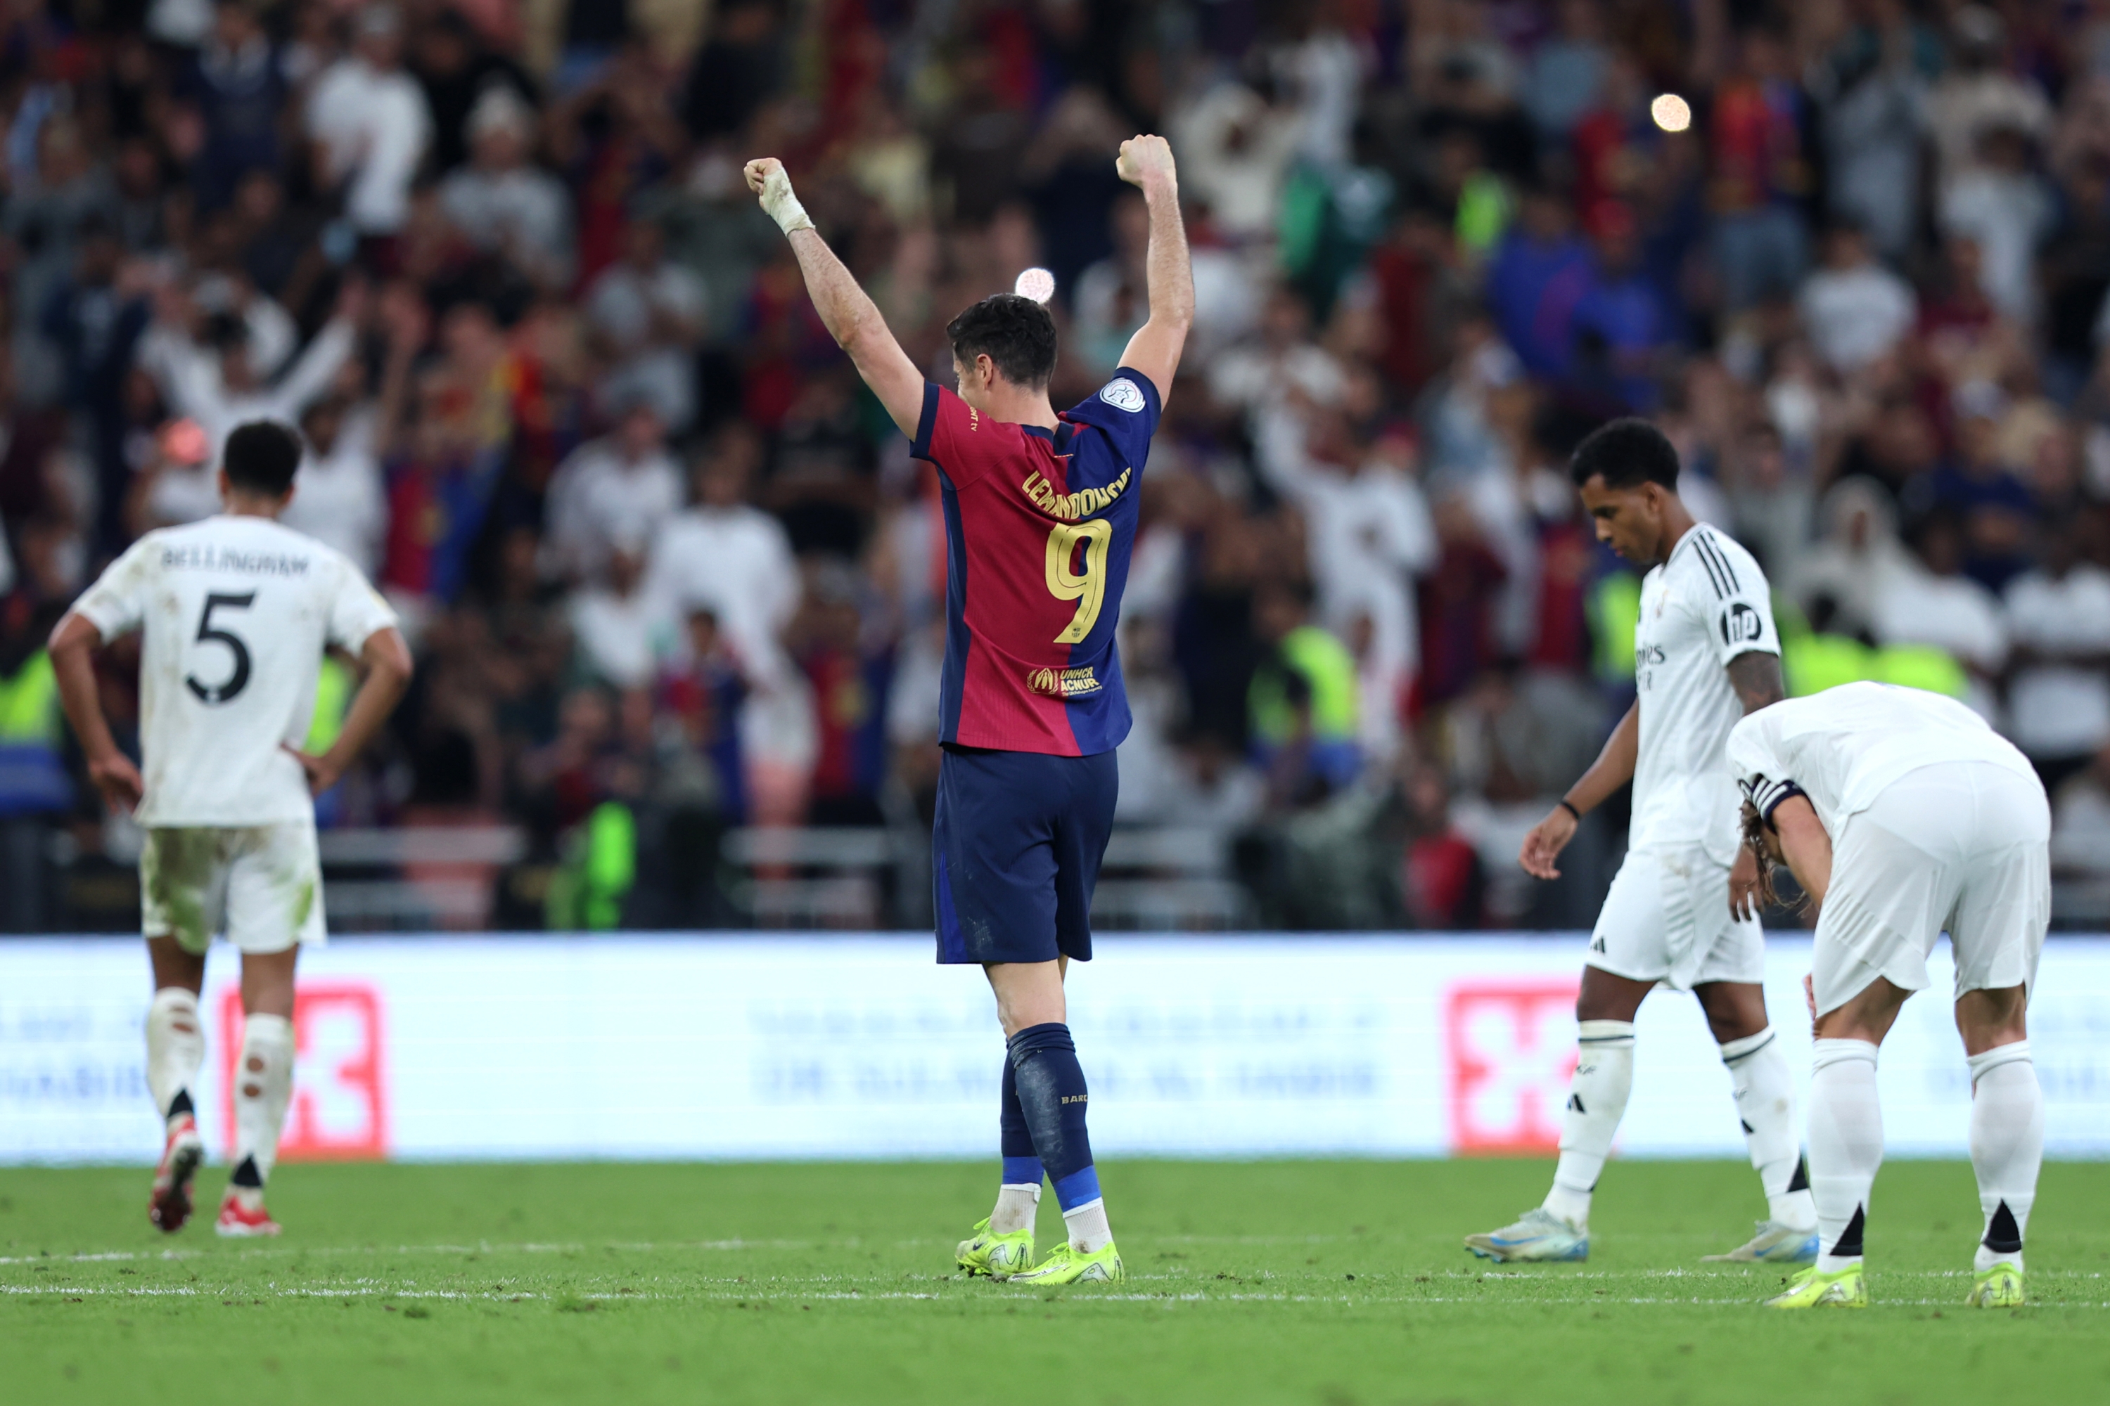
[[[1150,209],[1150,318],[1114,377],[1057,415],[1047,308],[1009,293],[981,299],[945,329],[958,392],[926,384],[814,232],[783,164],[747,162],[747,183],[789,236],[821,320],[943,489],[937,959],[987,972],[1009,1046],[1002,1185],[958,1261],[971,1275],[1019,1284],[1123,1277],[1085,1132],[1063,970],[1072,957],[1091,959],[1114,746],[1129,734],[1114,630],[1137,479],[1194,316],[1194,280],[1171,148],[1131,137],[1114,169]],[[1032,1265],[1042,1174],[1070,1237]]]

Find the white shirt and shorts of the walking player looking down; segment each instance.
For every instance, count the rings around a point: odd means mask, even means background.
[[[1696,523],[1642,578],[1633,824],[1591,932],[1589,965],[1677,991],[1764,980],[1758,919],[1737,921],[1728,911],[1739,790],[1724,744],[1743,702],[1726,668],[1741,653],[1779,651],[1766,573],[1726,533]]]

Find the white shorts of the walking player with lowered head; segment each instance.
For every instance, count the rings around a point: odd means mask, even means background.
[[[1629,850],[1604,896],[1585,965],[1677,991],[1764,982],[1766,934],[1728,913],[1728,864],[1699,845]]]

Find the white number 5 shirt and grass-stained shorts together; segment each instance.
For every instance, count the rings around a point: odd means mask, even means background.
[[[143,630],[141,930],[203,953],[321,942],[323,885],[300,746],[323,651],[395,613],[340,552],[260,516],[152,531],[74,603],[112,641]]]

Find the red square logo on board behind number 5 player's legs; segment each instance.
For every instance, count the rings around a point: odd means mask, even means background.
[[[234,1083],[243,1048],[243,997],[219,1001],[222,1113],[234,1145]],[[382,1060],[382,997],[371,982],[300,982],[293,991],[293,1102],[279,1157],[329,1161],[388,1155],[388,1081]]]

